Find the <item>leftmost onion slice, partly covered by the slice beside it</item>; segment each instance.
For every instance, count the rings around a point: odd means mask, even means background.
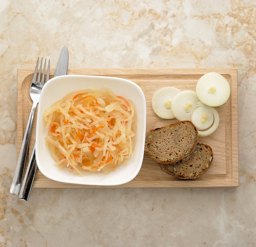
[[[157,116],[164,119],[175,118],[171,110],[171,101],[179,92],[176,87],[163,87],[153,94],[152,108]]]

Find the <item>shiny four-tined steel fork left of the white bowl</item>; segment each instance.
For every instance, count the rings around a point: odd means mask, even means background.
[[[31,107],[31,111],[29,114],[27,127],[25,129],[24,137],[22,140],[22,145],[20,148],[20,154],[18,157],[16,169],[14,171],[13,180],[12,180],[11,188],[10,188],[10,193],[14,194],[14,195],[18,195],[19,191],[20,191],[20,185],[21,185],[21,181],[22,181],[22,177],[23,177],[24,168],[25,168],[27,150],[28,150],[28,146],[29,146],[29,138],[30,138],[30,134],[31,134],[31,128],[32,128],[32,123],[33,123],[33,119],[34,119],[34,113],[36,110],[36,106],[39,102],[40,93],[42,91],[42,88],[45,85],[45,82],[47,82],[49,80],[50,60],[48,62],[47,75],[46,75],[46,79],[45,79],[46,59],[45,59],[45,64],[43,67],[43,74],[42,74],[42,78],[41,78],[42,63],[43,63],[43,58],[41,58],[40,68],[38,71],[38,78],[36,80],[37,70],[38,70],[38,62],[39,62],[39,57],[36,62],[36,68],[34,71],[34,75],[33,75],[32,82],[31,82],[31,87],[30,87],[30,98],[32,100],[32,107]],[[44,80],[45,80],[45,82],[44,82]]]

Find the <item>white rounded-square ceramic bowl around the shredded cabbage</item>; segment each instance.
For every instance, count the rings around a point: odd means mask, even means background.
[[[128,159],[128,165],[121,164],[107,175],[103,172],[84,172],[83,177],[81,177],[76,172],[70,172],[70,169],[58,169],[54,166],[55,162],[45,145],[48,129],[45,128],[44,111],[70,92],[82,89],[100,89],[102,87],[107,87],[115,94],[132,100],[134,104],[137,131],[133,139],[133,157]],[[121,185],[129,182],[139,173],[144,156],[145,134],[146,100],[143,91],[136,83],[107,76],[57,76],[45,84],[40,95],[36,124],[36,162],[44,176],[59,182],[81,185]]]

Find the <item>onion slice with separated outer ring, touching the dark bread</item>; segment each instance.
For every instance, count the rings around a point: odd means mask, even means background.
[[[219,126],[220,117],[214,107],[198,102],[191,116],[191,122],[198,129],[198,136],[205,137],[213,134]]]

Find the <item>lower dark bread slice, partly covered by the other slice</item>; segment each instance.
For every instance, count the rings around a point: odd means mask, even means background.
[[[159,164],[167,174],[181,179],[195,179],[200,177],[211,165],[213,151],[210,146],[198,143],[193,155],[189,160],[177,162],[176,164]]]

